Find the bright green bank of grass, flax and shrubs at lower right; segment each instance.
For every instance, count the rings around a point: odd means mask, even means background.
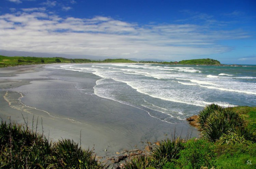
[[[128,168],[255,169],[255,110],[208,105],[199,113],[204,137],[186,142],[163,140],[148,159],[132,159]]]

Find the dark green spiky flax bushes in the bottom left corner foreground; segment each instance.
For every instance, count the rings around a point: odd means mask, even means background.
[[[102,169],[93,152],[69,139],[48,142],[27,127],[0,125],[0,169]]]

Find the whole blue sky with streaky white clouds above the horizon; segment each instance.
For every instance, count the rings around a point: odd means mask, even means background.
[[[256,65],[256,1],[0,0],[3,51]]]

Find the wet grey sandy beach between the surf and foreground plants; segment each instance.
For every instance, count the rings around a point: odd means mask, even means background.
[[[123,149],[144,149],[167,137],[198,136],[188,123],[170,124],[148,112],[94,94],[100,78],[84,73],[72,77],[69,71],[47,65],[0,68],[0,118],[43,132],[51,141],[73,139],[98,156],[112,156]],[[86,79],[86,81],[84,80]],[[78,90],[78,84],[86,88]],[[191,134],[192,133],[192,134]]]

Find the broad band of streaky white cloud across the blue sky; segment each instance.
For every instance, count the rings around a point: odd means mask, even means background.
[[[0,15],[1,50],[177,60],[227,52],[231,49],[218,40],[248,37],[241,30],[192,24],[140,26],[103,16],[61,18],[43,9],[23,10]]]

